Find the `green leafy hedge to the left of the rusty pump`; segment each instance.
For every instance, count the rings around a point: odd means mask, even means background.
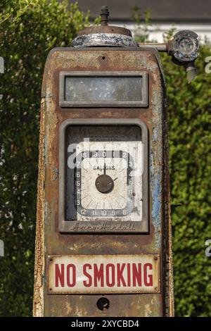
[[[52,47],[70,46],[89,15],[56,0],[1,1],[0,12],[0,316],[30,316],[44,63]]]

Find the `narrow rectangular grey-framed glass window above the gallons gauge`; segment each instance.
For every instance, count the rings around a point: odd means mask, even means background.
[[[146,107],[147,73],[60,73],[60,106]]]

